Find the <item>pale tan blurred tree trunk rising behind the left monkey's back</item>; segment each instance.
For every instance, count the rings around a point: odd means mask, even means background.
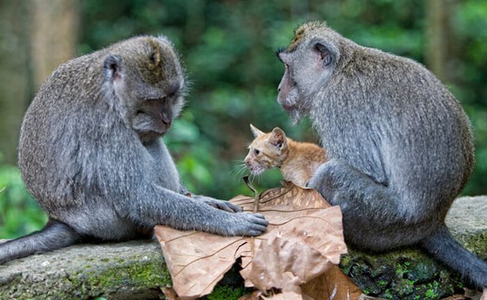
[[[35,89],[74,57],[79,29],[77,0],[32,0],[31,58]]]

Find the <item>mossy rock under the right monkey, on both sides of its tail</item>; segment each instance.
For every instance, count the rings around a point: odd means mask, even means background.
[[[487,197],[455,200],[447,226],[460,244],[487,259]],[[442,299],[463,294],[459,274],[421,250],[403,248],[371,254],[349,249],[340,267],[365,294],[385,299]]]

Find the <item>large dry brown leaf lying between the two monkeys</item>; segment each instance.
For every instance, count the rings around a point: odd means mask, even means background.
[[[179,299],[209,294],[239,257],[246,286],[258,287],[264,295],[267,290],[282,290],[281,294],[268,294],[266,299],[279,299],[276,297],[285,297],[284,293],[301,295],[300,285],[324,276],[320,274],[333,269],[340,255],[346,253],[340,207],[330,207],[317,191],[285,182],[283,187],[265,191],[258,207],[254,198],[247,196],[230,201],[246,211],[264,214],[269,221],[267,232],[255,238],[221,237],[156,226]],[[271,251],[277,253],[271,255]],[[337,288],[341,287],[344,285]],[[347,283],[345,290],[351,289],[358,287]],[[307,295],[300,297],[292,299],[310,299]]]

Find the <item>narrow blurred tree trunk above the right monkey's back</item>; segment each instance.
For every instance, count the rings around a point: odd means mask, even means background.
[[[426,4],[426,64],[442,81],[452,81],[451,12],[455,0],[428,0]]]

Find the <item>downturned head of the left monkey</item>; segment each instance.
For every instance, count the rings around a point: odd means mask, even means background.
[[[106,99],[142,141],[165,134],[184,106],[184,70],[165,37],[141,36],[106,49]]]

